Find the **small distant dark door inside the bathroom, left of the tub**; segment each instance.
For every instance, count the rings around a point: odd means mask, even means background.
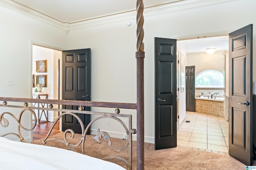
[[[186,111],[196,111],[195,66],[186,66]]]

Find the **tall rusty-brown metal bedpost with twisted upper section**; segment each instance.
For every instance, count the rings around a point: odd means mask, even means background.
[[[137,170],[144,170],[144,4],[137,0]]]

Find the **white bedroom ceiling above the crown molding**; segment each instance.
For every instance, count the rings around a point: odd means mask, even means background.
[[[13,0],[62,22],[76,22],[136,10],[137,0]],[[144,7],[181,0],[144,0]]]

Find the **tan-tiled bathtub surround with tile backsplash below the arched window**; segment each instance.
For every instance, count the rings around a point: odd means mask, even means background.
[[[198,99],[198,96],[203,95]],[[217,94],[214,94],[217,93]],[[211,95],[212,100],[211,100]],[[208,100],[209,97],[209,100]],[[216,97],[216,100],[214,98]],[[220,100],[219,100],[220,99]],[[223,99],[223,100],[222,100]],[[224,117],[224,89],[223,88],[196,88],[196,112]]]

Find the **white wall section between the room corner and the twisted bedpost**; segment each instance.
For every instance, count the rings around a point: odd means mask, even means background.
[[[124,20],[74,30],[68,34],[68,49],[91,48],[91,101],[136,103],[135,30],[134,20],[130,27]],[[91,110],[114,113],[115,108],[92,107]],[[120,113],[132,114],[133,128],[136,128],[136,110],[120,109]],[[148,121],[154,124],[154,120]],[[94,123],[92,133],[95,134],[98,128],[108,133],[117,132],[119,137],[124,134],[114,123],[106,124],[106,120]]]

